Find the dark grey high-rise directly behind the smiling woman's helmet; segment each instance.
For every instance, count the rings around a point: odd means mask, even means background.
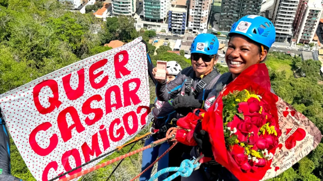
[[[259,15],[263,0],[222,0],[219,30],[230,30],[245,15]]]

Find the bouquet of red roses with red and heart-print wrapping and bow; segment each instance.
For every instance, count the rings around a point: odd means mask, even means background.
[[[255,64],[229,83],[207,112],[179,119],[176,139],[196,145],[197,120],[207,131],[214,159],[239,180],[266,180],[287,170],[320,142],[315,125],[270,92],[265,64]]]

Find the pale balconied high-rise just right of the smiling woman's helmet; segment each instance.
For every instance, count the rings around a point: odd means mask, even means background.
[[[276,29],[276,42],[291,42],[293,22],[299,0],[275,0],[272,22]]]

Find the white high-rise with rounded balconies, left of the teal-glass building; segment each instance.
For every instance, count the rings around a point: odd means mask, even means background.
[[[137,0],[112,0],[112,15],[132,16],[136,13]]]

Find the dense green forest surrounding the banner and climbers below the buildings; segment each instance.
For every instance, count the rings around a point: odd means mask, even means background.
[[[142,36],[145,41],[156,35],[142,29],[137,32],[135,20],[125,16],[111,17],[106,22],[97,20],[92,10],[87,14],[66,10],[56,0],[0,0],[0,93],[21,86],[73,62],[107,51],[103,46],[111,40],[130,42]],[[182,68],[190,60],[167,52],[169,46],[148,44],[153,62],[156,60],[179,62]],[[319,75],[321,63],[302,61],[282,53],[269,53],[266,64],[270,71],[272,87],[278,96],[306,115],[323,132],[323,81]],[[227,68],[216,65],[221,73]],[[151,100],[154,98],[151,86]],[[143,130],[145,132],[147,130]],[[26,181],[35,180],[11,141],[12,174]],[[140,148],[138,143],[133,149]],[[109,160],[128,151],[116,152]],[[116,164],[99,169],[80,180],[105,181]],[[110,180],[130,180],[140,173],[141,155],[126,158]],[[323,143],[292,168],[271,179],[274,181],[323,180]]]

